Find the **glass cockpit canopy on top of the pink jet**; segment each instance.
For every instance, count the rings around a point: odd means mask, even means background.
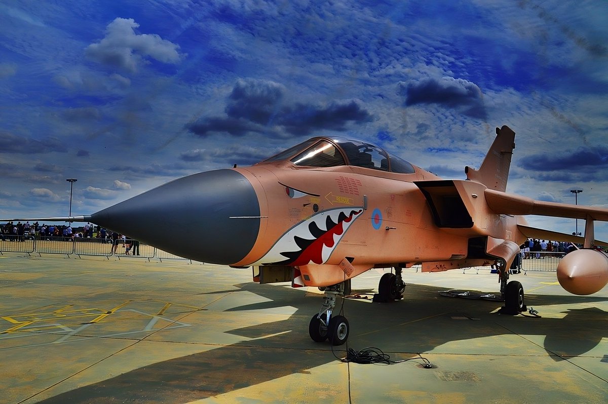
[[[389,171],[390,173],[413,174],[413,166],[399,157],[389,156],[378,146],[361,140],[339,137],[313,137],[264,160],[276,162],[289,160],[297,166],[334,167],[352,165],[363,168]]]

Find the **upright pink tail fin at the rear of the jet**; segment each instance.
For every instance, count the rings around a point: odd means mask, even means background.
[[[505,191],[509,178],[511,156],[515,148],[515,132],[508,126],[496,128],[496,138],[479,169],[465,167],[466,179],[480,182],[491,190]]]

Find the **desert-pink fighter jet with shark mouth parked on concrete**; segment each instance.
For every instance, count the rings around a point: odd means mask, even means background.
[[[542,202],[505,192],[515,132],[496,128],[478,169],[445,180],[360,140],[313,137],[244,168],[216,169],[165,183],[88,216],[38,221],[92,222],[185,258],[252,267],[254,281],[315,286],[324,301],[309,323],[314,341],[347,341],[347,318],[334,313],[350,279],[392,267],[378,301],[403,297],[402,269],[425,272],[496,265],[505,310],[526,310],[509,267],[527,238],[578,242],[557,275],[570,293],[608,282],[608,256],[593,245],[594,221],[608,209]],[[533,228],[524,215],[584,219],[584,237]],[[24,220],[24,219],[8,219]],[[33,220],[33,219],[29,219]]]

